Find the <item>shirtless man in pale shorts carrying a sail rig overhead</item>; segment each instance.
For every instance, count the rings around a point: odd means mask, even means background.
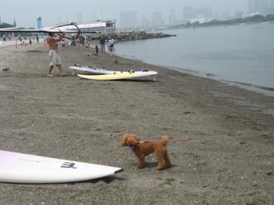
[[[57,52],[57,47],[58,47],[57,42],[62,41],[62,39],[64,38],[64,35],[65,33],[63,32],[63,36],[60,36],[59,38],[54,38],[54,33],[49,32],[49,36],[47,39],[49,43],[49,58],[50,58],[49,73],[47,74],[48,77],[52,77],[51,70],[54,68],[54,65],[58,66],[61,76],[66,75],[66,73],[64,73],[64,70],[62,69],[61,58],[59,57]]]

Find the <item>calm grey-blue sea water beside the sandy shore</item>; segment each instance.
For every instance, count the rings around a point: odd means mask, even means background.
[[[115,53],[250,88],[274,88],[274,23],[161,32],[177,36],[119,42]]]

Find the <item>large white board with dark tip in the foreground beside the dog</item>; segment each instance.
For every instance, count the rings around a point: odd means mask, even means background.
[[[0,150],[0,182],[64,183],[97,179],[122,172],[118,167]]]

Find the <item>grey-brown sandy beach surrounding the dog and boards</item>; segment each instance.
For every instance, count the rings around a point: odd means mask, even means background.
[[[0,149],[122,167],[113,177],[65,184],[0,184],[0,204],[274,204],[274,97],[86,48],[59,51],[68,75],[46,78],[42,44],[0,48]],[[115,61],[118,63],[114,63]],[[156,70],[151,78],[83,80],[73,64]],[[10,67],[8,73],[3,68]],[[168,144],[157,171],[120,145]]]

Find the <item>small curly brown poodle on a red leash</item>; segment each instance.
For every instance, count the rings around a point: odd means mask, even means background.
[[[145,157],[153,152],[156,154],[158,161],[158,170],[166,167],[171,167],[171,157],[168,155],[166,144],[168,144],[168,137],[164,136],[160,141],[141,142],[141,138],[136,135],[126,134],[121,140],[123,146],[131,147],[138,159],[137,167],[139,169],[145,166]]]

